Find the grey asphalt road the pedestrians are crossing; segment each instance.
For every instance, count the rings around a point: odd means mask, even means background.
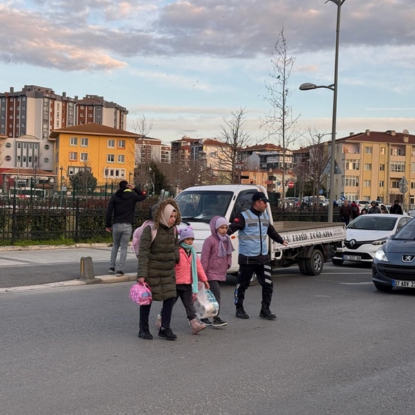
[[[229,325],[191,335],[176,304],[176,342],[137,338],[131,283],[0,293],[1,414],[414,414],[413,291],[331,264],[274,282],[276,321],[259,286],[235,318],[226,285]]]

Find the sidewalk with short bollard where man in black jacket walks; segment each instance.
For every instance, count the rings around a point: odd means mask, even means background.
[[[136,272],[126,273],[120,277],[116,275],[98,275],[94,279],[65,279],[62,277],[63,268],[76,268],[80,270],[80,259],[91,257],[97,268],[102,271],[107,270],[111,252],[110,243],[82,243],[73,246],[3,246],[0,247],[0,269],[3,270],[3,283],[0,293],[10,293],[16,291],[31,291],[39,289],[61,288],[71,286],[82,286],[89,284],[113,284],[116,282],[135,282]],[[136,261],[133,253],[127,252],[129,268]],[[105,264],[105,267],[103,266]],[[78,268],[79,267],[79,268]],[[33,272],[30,272],[30,269]],[[125,272],[125,271],[124,271]],[[37,278],[33,275],[37,273]],[[14,274],[14,275],[13,275]],[[39,277],[45,275],[44,278]],[[46,277],[47,274],[47,277]],[[70,273],[68,278],[80,273]],[[12,279],[10,279],[10,275]],[[33,284],[33,280],[47,282],[46,284]],[[12,281],[12,283],[10,282]],[[10,286],[8,286],[10,284]]]

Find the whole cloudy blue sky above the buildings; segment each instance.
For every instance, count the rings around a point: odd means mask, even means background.
[[[273,53],[284,28],[295,57],[288,105],[298,131],[331,134],[333,92],[299,91],[334,78],[333,0],[3,0],[0,91],[26,84],[68,96],[103,96],[144,115],[163,142],[220,137],[245,109],[252,144],[273,111]],[[341,6],[337,138],[415,134],[415,1],[345,0]],[[292,148],[304,145],[303,138]]]

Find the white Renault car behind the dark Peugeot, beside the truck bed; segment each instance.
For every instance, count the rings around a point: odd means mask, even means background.
[[[411,216],[401,214],[362,214],[351,221],[346,228],[346,240],[342,248],[335,250],[331,259],[333,264],[343,261],[371,262],[375,252],[391,235],[412,220]]]

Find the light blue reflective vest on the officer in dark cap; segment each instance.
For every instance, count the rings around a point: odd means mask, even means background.
[[[268,214],[261,213],[257,216],[250,210],[242,212],[245,219],[245,228],[239,230],[239,254],[246,257],[267,255],[266,232],[270,223]]]

